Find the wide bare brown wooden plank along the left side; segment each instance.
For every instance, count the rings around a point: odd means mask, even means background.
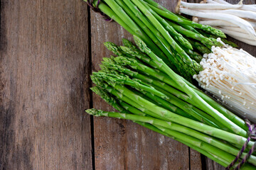
[[[87,6],[1,0],[0,169],[92,169]]]

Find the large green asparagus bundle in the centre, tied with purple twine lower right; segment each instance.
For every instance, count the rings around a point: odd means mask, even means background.
[[[118,56],[103,58],[102,70],[92,74],[92,91],[121,113],[87,113],[133,120],[228,166],[247,141],[245,122],[174,73],[141,39],[134,40],[141,51],[127,40],[121,47],[106,42]],[[235,166],[256,169],[255,143],[248,142],[238,157],[247,163]]]

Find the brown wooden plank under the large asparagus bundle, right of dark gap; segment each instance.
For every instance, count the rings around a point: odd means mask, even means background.
[[[163,4],[165,3],[165,4]],[[176,1],[161,1],[174,9]],[[103,45],[111,41],[121,45],[121,38],[132,37],[117,23],[104,21],[91,13],[92,71],[99,69],[102,57],[109,57]],[[93,106],[112,111],[93,95]],[[94,118],[95,169],[189,169],[188,147],[125,120]]]

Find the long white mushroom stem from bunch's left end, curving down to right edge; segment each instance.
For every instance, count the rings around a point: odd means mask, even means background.
[[[210,19],[218,19],[223,21],[228,21],[230,23],[234,23],[235,25],[240,26],[240,28],[244,29],[249,33],[253,38],[256,39],[256,33],[254,28],[248,23],[247,21],[243,20],[242,18],[239,18],[238,16],[233,16],[226,13],[203,13],[200,11],[191,10],[188,8],[180,8],[180,13],[184,13],[190,16],[197,16],[197,17],[203,17],[203,18],[210,18]]]

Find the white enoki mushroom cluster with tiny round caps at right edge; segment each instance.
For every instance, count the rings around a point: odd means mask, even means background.
[[[194,75],[200,86],[237,113],[256,120],[256,59],[225,45],[203,55],[203,71]]]

